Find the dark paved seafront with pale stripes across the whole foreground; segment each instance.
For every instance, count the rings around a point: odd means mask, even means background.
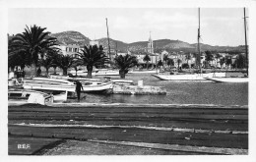
[[[248,154],[247,106],[60,103],[8,112],[10,155]]]

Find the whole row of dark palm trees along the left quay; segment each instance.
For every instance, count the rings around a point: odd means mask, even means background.
[[[114,61],[110,62],[101,45],[99,47],[96,45],[84,46],[84,49],[76,54],[78,57],[63,55],[56,47],[57,39],[50,37],[50,32],[45,29],[36,26],[26,27],[25,32],[17,34],[9,41],[8,66],[11,67],[11,70],[15,66],[21,66],[24,71],[26,66],[33,66],[33,77],[36,76],[37,67],[43,66],[46,69],[46,75],[48,75],[49,68],[53,67],[54,74],[56,74],[56,68],[59,67],[63,70],[63,75],[66,76],[68,69],[75,68],[77,71],[78,66],[86,66],[88,77],[92,78],[94,67],[112,64],[119,69],[120,77],[125,78],[129,69],[138,64],[137,58],[129,54],[116,56]]]

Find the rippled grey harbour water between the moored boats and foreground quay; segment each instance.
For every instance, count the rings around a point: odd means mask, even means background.
[[[119,77],[111,77],[119,79]],[[99,78],[102,79],[102,78]],[[159,81],[151,75],[128,75],[136,84],[163,86],[166,95],[82,94],[81,102],[145,104],[222,104],[248,105],[248,83],[214,83],[211,81]],[[75,101],[75,100],[72,100]]]

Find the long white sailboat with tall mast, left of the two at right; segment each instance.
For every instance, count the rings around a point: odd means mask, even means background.
[[[199,74],[179,74],[179,75],[152,75],[161,81],[207,81],[206,78],[225,77],[224,72],[202,74],[201,52],[200,52],[200,8],[198,9],[199,27],[198,27],[198,54],[199,54]]]

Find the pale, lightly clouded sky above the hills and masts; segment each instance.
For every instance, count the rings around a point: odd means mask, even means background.
[[[244,45],[243,8],[201,8],[200,13],[202,43]],[[109,36],[126,43],[148,41],[150,33],[153,40],[197,42],[198,8],[9,8],[8,33],[36,25],[97,39],[107,36],[105,18]]]

